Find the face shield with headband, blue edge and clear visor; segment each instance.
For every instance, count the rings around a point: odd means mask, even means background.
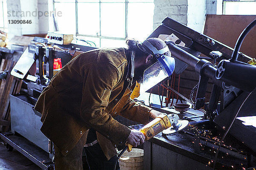
[[[143,45],[154,54],[157,62],[145,69],[143,82],[140,84],[140,93],[147,91],[163,79],[170,77],[175,69],[175,59],[171,56],[164,55],[169,51],[168,46],[157,50],[157,48],[155,48],[150,42],[145,40],[143,43],[138,45],[138,47],[145,52],[147,50],[143,48]]]

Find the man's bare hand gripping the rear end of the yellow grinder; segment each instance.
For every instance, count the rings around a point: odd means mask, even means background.
[[[131,133],[127,139],[128,144],[131,144],[133,147],[137,147],[140,144],[143,144],[145,136],[139,130],[132,129]]]

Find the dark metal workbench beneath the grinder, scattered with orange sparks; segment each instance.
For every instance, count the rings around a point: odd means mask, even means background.
[[[172,136],[162,136],[162,133],[159,133],[145,141],[144,170],[212,170],[215,152],[218,149],[218,139],[212,139],[212,136],[211,138],[204,137],[204,134],[200,134],[202,130],[211,133],[209,130],[204,130],[210,126],[212,126],[210,122],[203,122],[196,127],[189,125],[187,129]],[[139,130],[143,125],[130,127]],[[205,140],[206,138],[208,140]],[[228,136],[228,138],[232,137]],[[236,143],[233,139],[227,141],[230,146]],[[231,144],[230,141],[234,143],[231,142]],[[246,153],[227,146],[227,143],[224,144],[226,145],[221,147],[218,154],[216,169],[245,170],[248,164]]]

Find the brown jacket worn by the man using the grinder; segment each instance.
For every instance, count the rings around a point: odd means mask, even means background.
[[[113,117],[120,114],[148,123],[151,108],[130,98],[125,50],[102,48],[80,54],[52,78],[40,95],[35,110],[42,113],[41,131],[63,155],[92,127],[110,159],[116,154],[113,145],[122,145],[131,132]]]

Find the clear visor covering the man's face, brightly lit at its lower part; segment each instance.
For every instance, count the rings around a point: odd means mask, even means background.
[[[144,93],[166,77],[168,77],[166,70],[157,61],[144,71],[143,83],[140,84],[140,93]]]

